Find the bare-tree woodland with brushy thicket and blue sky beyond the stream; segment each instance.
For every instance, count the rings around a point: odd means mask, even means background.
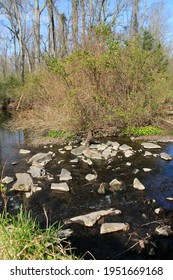
[[[169,8],[152,0],[0,1],[0,105],[14,111],[12,126],[67,138],[159,127],[172,102]]]

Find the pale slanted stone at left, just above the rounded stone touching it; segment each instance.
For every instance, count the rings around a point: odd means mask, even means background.
[[[45,166],[49,161],[52,160],[54,156],[53,152],[48,152],[48,153],[37,153],[36,155],[34,155],[32,158],[30,158],[30,160],[28,161],[28,163],[31,163],[32,165],[36,165],[36,166]]]

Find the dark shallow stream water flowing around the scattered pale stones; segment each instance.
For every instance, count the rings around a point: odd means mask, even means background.
[[[1,116],[1,124],[5,119]],[[132,142],[128,138],[105,138],[108,140],[130,145],[134,155],[125,158],[120,154],[112,161],[93,161],[92,166],[79,160],[72,164],[70,160],[75,156],[65,151],[64,146],[49,144],[33,147],[28,144],[24,132],[10,132],[2,125],[0,127],[0,171],[2,177],[15,178],[16,173],[24,173],[29,169],[28,160],[38,152],[52,151],[55,157],[46,165],[46,172],[57,182],[58,174],[66,168],[72,174],[68,182],[70,192],[63,193],[50,189],[50,181],[34,178],[34,183],[41,190],[34,193],[29,199],[21,193],[8,191],[8,210],[16,213],[21,204],[32,211],[32,216],[44,228],[46,219],[43,208],[46,210],[49,223],[61,222],[78,215],[90,212],[115,208],[122,214],[106,216],[100,219],[93,227],[86,228],[80,224],[65,225],[73,231],[69,240],[74,252],[86,259],[173,259],[173,236],[158,235],[155,229],[158,226],[173,227],[173,160],[165,161],[159,156],[150,158],[142,156],[141,143]],[[161,150],[154,153],[166,152],[173,156],[173,143],[159,143]],[[29,149],[30,154],[19,154],[20,149]],[[62,149],[62,150],[60,150]],[[130,165],[127,165],[130,162]],[[145,172],[143,168],[150,168]],[[97,179],[87,182],[88,173],[97,173]],[[133,188],[134,178],[138,178],[146,187],[144,191]],[[110,182],[114,178],[123,182],[123,190],[108,194],[99,194],[98,188],[102,182]],[[8,190],[13,183],[9,184]],[[2,211],[0,199],[0,211]],[[155,209],[159,208],[159,213]],[[103,222],[124,222],[130,225],[128,232],[100,234],[100,224]],[[144,242],[145,241],[145,242]],[[136,246],[135,246],[136,244]],[[88,253],[87,253],[88,252]]]

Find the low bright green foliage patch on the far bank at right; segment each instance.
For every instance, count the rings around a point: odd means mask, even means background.
[[[128,127],[125,130],[123,130],[123,134],[128,136],[133,135],[134,137],[148,136],[148,135],[162,135],[163,130],[153,126]]]

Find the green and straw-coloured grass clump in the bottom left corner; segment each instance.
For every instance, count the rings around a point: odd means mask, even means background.
[[[76,259],[70,244],[59,237],[61,227],[41,230],[30,213],[20,209],[17,217],[0,218],[1,260],[67,260]],[[63,244],[63,245],[62,245]]]

